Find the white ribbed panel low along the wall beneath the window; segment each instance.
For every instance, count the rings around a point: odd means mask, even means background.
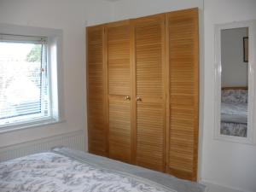
[[[84,150],[84,131],[73,131],[55,137],[40,139],[0,148],[0,162],[11,160],[28,154],[36,154],[49,151],[56,146],[66,146],[78,150]]]

